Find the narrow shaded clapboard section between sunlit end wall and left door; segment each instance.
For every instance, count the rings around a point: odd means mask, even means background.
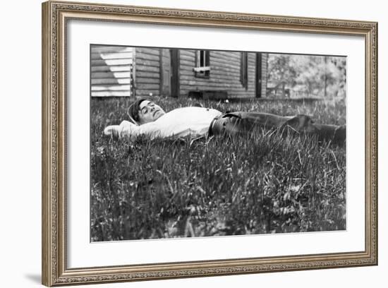
[[[135,56],[135,95],[145,97],[159,95],[160,58],[159,48],[137,47]]]

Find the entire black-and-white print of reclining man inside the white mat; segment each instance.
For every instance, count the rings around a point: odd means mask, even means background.
[[[346,230],[346,56],[90,45],[90,241]]]

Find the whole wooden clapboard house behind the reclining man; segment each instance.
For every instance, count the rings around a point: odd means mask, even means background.
[[[264,97],[267,54],[92,46],[92,97]]]

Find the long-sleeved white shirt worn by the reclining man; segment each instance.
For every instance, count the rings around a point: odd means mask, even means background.
[[[129,121],[121,122],[121,138],[135,138],[140,135],[154,138],[205,136],[214,117],[222,113],[216,109],[202,107],[183,107],[160,116],[156,121],[140,126]]]

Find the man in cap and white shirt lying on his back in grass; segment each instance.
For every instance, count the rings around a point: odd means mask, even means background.
[[[306,115],[278,116],[259,112],[232,112],[223,114],[216,109],[182,107],[164,112],[162,107],[140,99],[128,109],[130,121],[107,126],[104,134],[115,138],[133,139],[145,135],[151,139],[184,136],[217,136],[252,133],[256,128],[287,129],[293,133],[317,136],[318,140],[343,144],[346,126],[315,124]]]

